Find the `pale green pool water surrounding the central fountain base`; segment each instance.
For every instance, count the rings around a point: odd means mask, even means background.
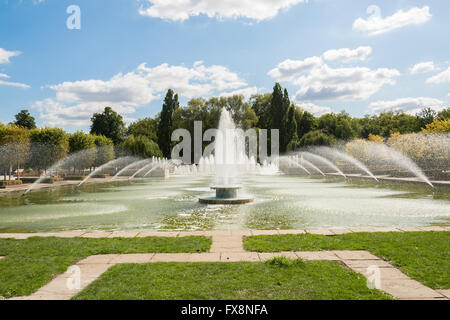
[[[450,225],[450,188],[247,176],[255,203],[206,206],[210,177],[134,180],[0,196],[0,232]]]

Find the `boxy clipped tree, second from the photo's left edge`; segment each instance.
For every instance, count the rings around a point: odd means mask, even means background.
[[[58,128],[42,128],[30,131],[31,160],[30,166],[47,169],[67,156],[69,152],[69,136]]]

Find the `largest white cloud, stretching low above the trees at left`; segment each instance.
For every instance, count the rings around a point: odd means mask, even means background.
[[[256,88],[248,88],[238,74],[224,66],[205,66],[202,61],[192,67],[161,64],[156,67],[139,65],[135,70],[119,73],[109,80],[82,80],[63,82],[48,88],[55,91],[54,98],[37,101],[34,107],[46,125],[87,126],[94,112],[105,106],[114,108],[125,117],[136,108],[159,99],[169,89],[181,97],[250,94]]]

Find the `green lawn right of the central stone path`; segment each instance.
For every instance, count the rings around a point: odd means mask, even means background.
[[[367,250],[433,289],[450,289],[450,232],[254,236],[244,241],[244,248],[257,252]]]

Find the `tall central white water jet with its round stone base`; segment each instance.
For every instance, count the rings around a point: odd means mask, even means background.
[[[246,170],[249,163],[254,159],[248,159],[245,154],[245,145],[240,143],[241,137],[236,130],[231,114],[222,110],[219,121],[219,129],[215,140],[215,157],[211,156],[201,160],[201,163],[215,163],[216,185],[211,189],[216,191],[215,197],[202,197],[200,203],[204,204],[245,204],[253,202],[251,197],[239,197],[238,190],[240,171]]]

